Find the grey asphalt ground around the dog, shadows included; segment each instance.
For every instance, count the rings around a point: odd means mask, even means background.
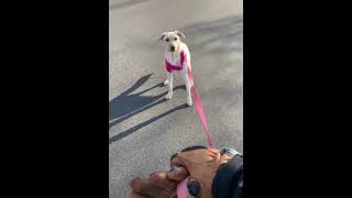
[[[170,155],[206,145],[180,76],[167,88],[164,31],[179,30],[191,53],[195,86],[218,147],[243,152],[243,16],[239,0],[110,0],[109,197],[124,198],[129,182],[167,170]]]

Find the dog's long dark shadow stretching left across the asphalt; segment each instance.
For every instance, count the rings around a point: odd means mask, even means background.
[[[145,94],[154,88],[163,87],[164,86],[163,82],[157,84],[157,85],[155,85],[151,88],[147,88],[143,91],[140,91],[138,94],[131,94],[134,90],[136,90],[139,87],[141,87],[143,84],[145,84],[151,78],[152,75],[153,74],[148,74],[148,75],[141,77],[130,89],[125,90],[120,96],[116,97],[114,99],[112,99],[109,102],[109,129],[112,128],[113,125],[142,112],[142,111],[145,111],[154,106],[157,106],[157,105],[166,101],[165,96],[167,95],[167,91],[160,94],[160,95],[156,95],[156,96],[142,96],[142,94]],[[185,86],[177,86],[174,88],[174,90],[176,90],[176,89],[186,89],[186,87]],[[169,114],[169,113],[172,113],[178,109],[183,109],[186,106],[176,107],[176,108],[167,111],[166,114]],[[160,119],[162,117],[165,117],[166,114],[162,113],[155,118]],[[153,120],[152,122],[157,120],[155,118],[151,119],[151,120]],[[139,124],[138,125],[139,128],[133,127],[132,129],[120,133],[119,135],[114,136],[113,140],[118,141],[118,140],[127,136],[128,134],[136,131],[141,127],[146,125],[146,123],[147,124],[152,123],[151,120]],[[110,140],[110,142],[112,140]]]

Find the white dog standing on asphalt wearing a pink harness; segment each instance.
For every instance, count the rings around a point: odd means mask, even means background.
[[[191,106],[191,81],[188,79],[188,69],[190,67],[190,53],[185,43],[180,41],[185,38],[185,34],[179,31],[174,32],[164,32],[161,36],[161,41],[164,41],[164,58],[165,58],[165,68],[167,70],[167,79],[164,81],[164,85],[168,85],[168,94],[166,99],[169,100],[173,97],[173,73],[179,72],[186,84],[187,91],[187,105]]]

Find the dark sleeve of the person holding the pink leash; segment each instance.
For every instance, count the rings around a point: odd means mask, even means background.
[[[243,157],[235,155],[221,166],[211,185],[212,198],[243,197]]]

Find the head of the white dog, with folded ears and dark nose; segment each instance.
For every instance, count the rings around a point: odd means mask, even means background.
[[[185,34],[179,31],[164,32],[161,41],[164,42],[164,47],[167,52],[177,52],[180,45],[180,38],[185,38]]]

